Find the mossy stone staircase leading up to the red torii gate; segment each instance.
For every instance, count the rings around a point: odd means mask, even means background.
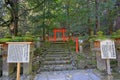
[[[45,56],[41,61],[40,71],[62,71],[73,69],[76,69],[76,66],[67,43],[51,43],[50,48],[45,51]]]

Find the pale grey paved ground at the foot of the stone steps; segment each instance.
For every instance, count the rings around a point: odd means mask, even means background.
[[[101,80],[93,70],[42,72],[34,80]]]

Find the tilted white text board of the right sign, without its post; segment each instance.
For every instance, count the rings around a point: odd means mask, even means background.
[[[100,42],[101,58],[116,59],[115,44],[112,40],[104,40]]]

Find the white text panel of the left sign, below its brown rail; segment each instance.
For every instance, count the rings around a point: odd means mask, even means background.
[[[28,63],[30,44],[9,44],[8,45],[8,63]]]

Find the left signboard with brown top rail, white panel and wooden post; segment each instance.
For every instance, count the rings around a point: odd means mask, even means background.
[[[8,63],[17,63],[17,78],[20,80],[20,63],[29,63],[31,42],[8,42]]]

